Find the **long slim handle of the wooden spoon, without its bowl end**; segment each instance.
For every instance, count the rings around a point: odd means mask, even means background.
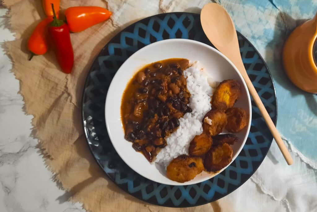
[[[243,67],[243,70],[245,70],[244,67]],[[243,73],[241,73],[241,74],[244,78],[245,83],[248,86],[249,92],[250,92],[251,96],[253,97],[254,102],[256,103],[256,106],[259,108],[259,110],[260,110],[266,124],[268,125],[268,128],[270,129],[270,131],[271,131],[271,133],[272,133],[272,135],[277,143],[277,146],[280,148],[281,153],[283,154],[287,164],[292,165],[293,159],[292,159],[291,155],[289,154],[288,149],[286,148],[284,142],[282,141],[282,138],[281,138],[279,132],[277,131],[271,117],[268,115],[268,111],[265,109],[265,107],[264,107],[259,95],[257,94],[256,89],[254,88],[249,76],[247,75],[246,72],[245,72],[245,74],[243,74]]]

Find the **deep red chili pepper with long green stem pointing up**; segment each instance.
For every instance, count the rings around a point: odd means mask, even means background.
[[[50,23],[49,34],[55,49],[58,63],[64,73],[69,74],[74,65],[74,50],[70,40],[69,27],[62,20],[58,20],[52,4],[54,20]]]

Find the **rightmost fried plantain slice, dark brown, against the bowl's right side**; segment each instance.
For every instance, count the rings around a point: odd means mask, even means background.
[[[226,111],[228,123],[226,129],[229,132],[240,132],[249,121],[249,115],[242,108],[230,108]]]

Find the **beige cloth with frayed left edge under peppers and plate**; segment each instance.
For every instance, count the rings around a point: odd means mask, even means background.
[[[3,0],[9,8],[8,26],[16,40],[5,43],[25,111],[34,116],[34,136],[45,155],[48,169],[71,195],[88,211],[219,211],[217,202],[187,209],[149,205],[126,194],[111,182],[94,161],[81,126],[81,95],[84,80],[94,57],[126,25],[157,13],[168,12],[180,1],[98,1],[61,0],[61,11],[71,6],[100,6],[113,11],[111,20],[80,33],[72,33],[74,68],[67,75],[60,71],[54,53],[34,56],[28,61],[27,40],[45,18],[40,0]],[[191,1],[183,1],[190,8]],[[200,8],[208,1],[200,1]],[[190,11],[197,12],[197,8]],[[189,10],[187,10],[189,11]],[[199,11],[199,8],[198,8]],[[61,14],[63,14],[61,12]],[[62,18],[62,15],[61,15]],[[105,129],[106,130],[106,129]]]

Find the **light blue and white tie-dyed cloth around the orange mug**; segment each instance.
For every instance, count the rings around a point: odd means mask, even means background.
[[[292,30],[317,12],[317,0],[221,0],[242,32],[260,51],[275,83],[277,129],[283,138],[317,163],[317,95],[295,87],[281,64],[281,51]],[[316,85],[317,86],[317,85]]]

